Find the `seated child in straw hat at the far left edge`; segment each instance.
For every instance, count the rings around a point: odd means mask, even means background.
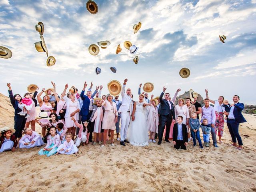
[[[15,148],[18,145],[16,137],[13,135],[15,133],[15,129],[13,128],[1,128],[0,129],[0,153],[6,150],[15,151]]]

